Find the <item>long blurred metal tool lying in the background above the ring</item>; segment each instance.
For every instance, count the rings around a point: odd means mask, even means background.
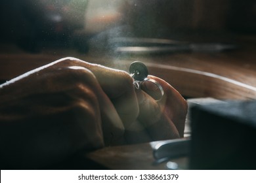
[[[236,45],[221,42],[195,43],[173,41],[170,39],[127,38],[110,40],[110,45],[116,45],[117,54],[163,54],[175,52],[223,52],[234,50]]]

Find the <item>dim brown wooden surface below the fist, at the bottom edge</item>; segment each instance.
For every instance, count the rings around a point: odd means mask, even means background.
[[[148,170],[167,169],[167,161],[158,163],[153,157],[152,144],[133,144],[102,148],[87,154],[87,158],[107,169]],[[188,169],[188,158],[169,159],[179,165],[179,169]]]

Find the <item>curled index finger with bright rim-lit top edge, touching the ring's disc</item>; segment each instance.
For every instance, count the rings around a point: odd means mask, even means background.
[[[71,65],[85,67],[95,75],[100,87],[114,104],[125,126],[136,120],[139,114],[139,107],[133,87],[133,79],[127,72],[89,63],[77,58],[60,59],[53,64],[53,67],[70,67]]]

